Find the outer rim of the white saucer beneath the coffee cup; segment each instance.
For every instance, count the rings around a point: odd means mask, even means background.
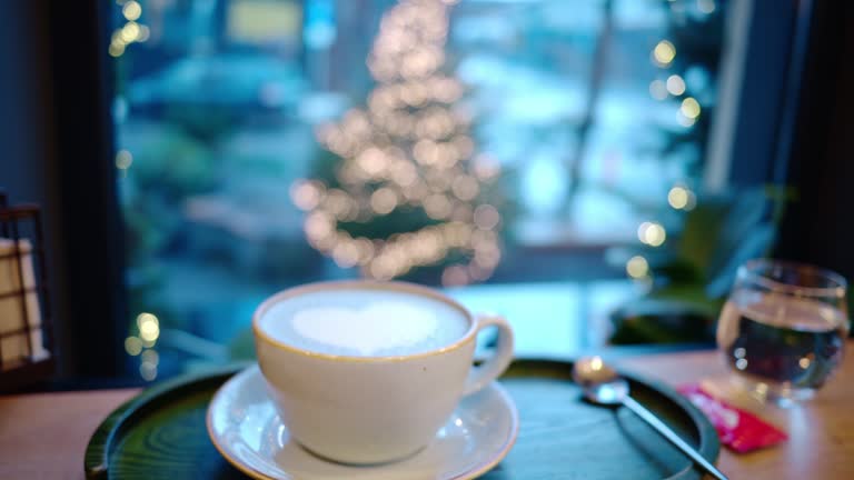
[[[234,377],[231,377],[225,383],[222,383],[222,386],[220,386],[219,389],[217,389],[217,392],[210,399],[210,403],[208,403],[208,410],[205,413],[205,427],[208,431],[208,438],[210,439],[210,442],[214,443],[214,448],[217,449],[219,454],[224,459],[226,459],[226,461],[228,461],[232,467],[240,470],[240,472],[251,477],[255,480],[281,480],[281,479],[277,479],[276,477],[270,477],[267,473],[261,472],[259,470],[256,470],[255,468],[244,463],[240,459],[232,457],[230,453],[227,453],[225,447],[222,447],[217,440],[218,436],[214,434],[212,413],[211,413],[214,410],[214,406],[219,401],[222,392],[232,382],[235,382],[238,379],[238,377],[240,376],[248,377],[249,374],[254,373],[252,370],[257,370],[257,374],[262,374],[258,364],[254,364],[241,371],[238,371],[237,373],[235,373]],[[443,478],[441,480],[470,480],[470,479],[477,478],[486,473],[487,471],[491,470],[498,463],[500,463],[500,461],[504,460],[505,457],[507,457],[507,453],[509,453],[513,447],[516,444],[516,440],[519,434],[519,412],[518,412],[518,409],[516,408],[516,403],[513,401],[513,398],[507,392],[507,390],[504,387],[502,387],[502,384],[498,381],[493,381],[488,383],[486,387],[484,387],[484,389],[487,389],[487,388],[495,389],[504,400],[505,404],[507,404],[510,413],[510,432],[505,439],[504,444],[502,444],[502,448],[489,460],[483,463],[475,464],[458,476]],[[483,389],[478,390],[478,392],[479,391],[483,391]],[[474,394],[477,394],[478,392],[475,392]]]

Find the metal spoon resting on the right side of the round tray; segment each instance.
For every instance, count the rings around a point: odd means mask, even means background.
[[[644,421],[658,430],[664,438],[691,457],[697,464],[718,480],[727,480],[708,460],[698,451],[687,444],[678,434],[658,419],[644,406],[636,402],[628,394],[628,382],[617,374],[616,370],[605,364],[599,357],[585,357],[578,359],[573,367],[573,380],[584,389],[584,397],[593,403],[614,406],[624,404],[635,412]]]

